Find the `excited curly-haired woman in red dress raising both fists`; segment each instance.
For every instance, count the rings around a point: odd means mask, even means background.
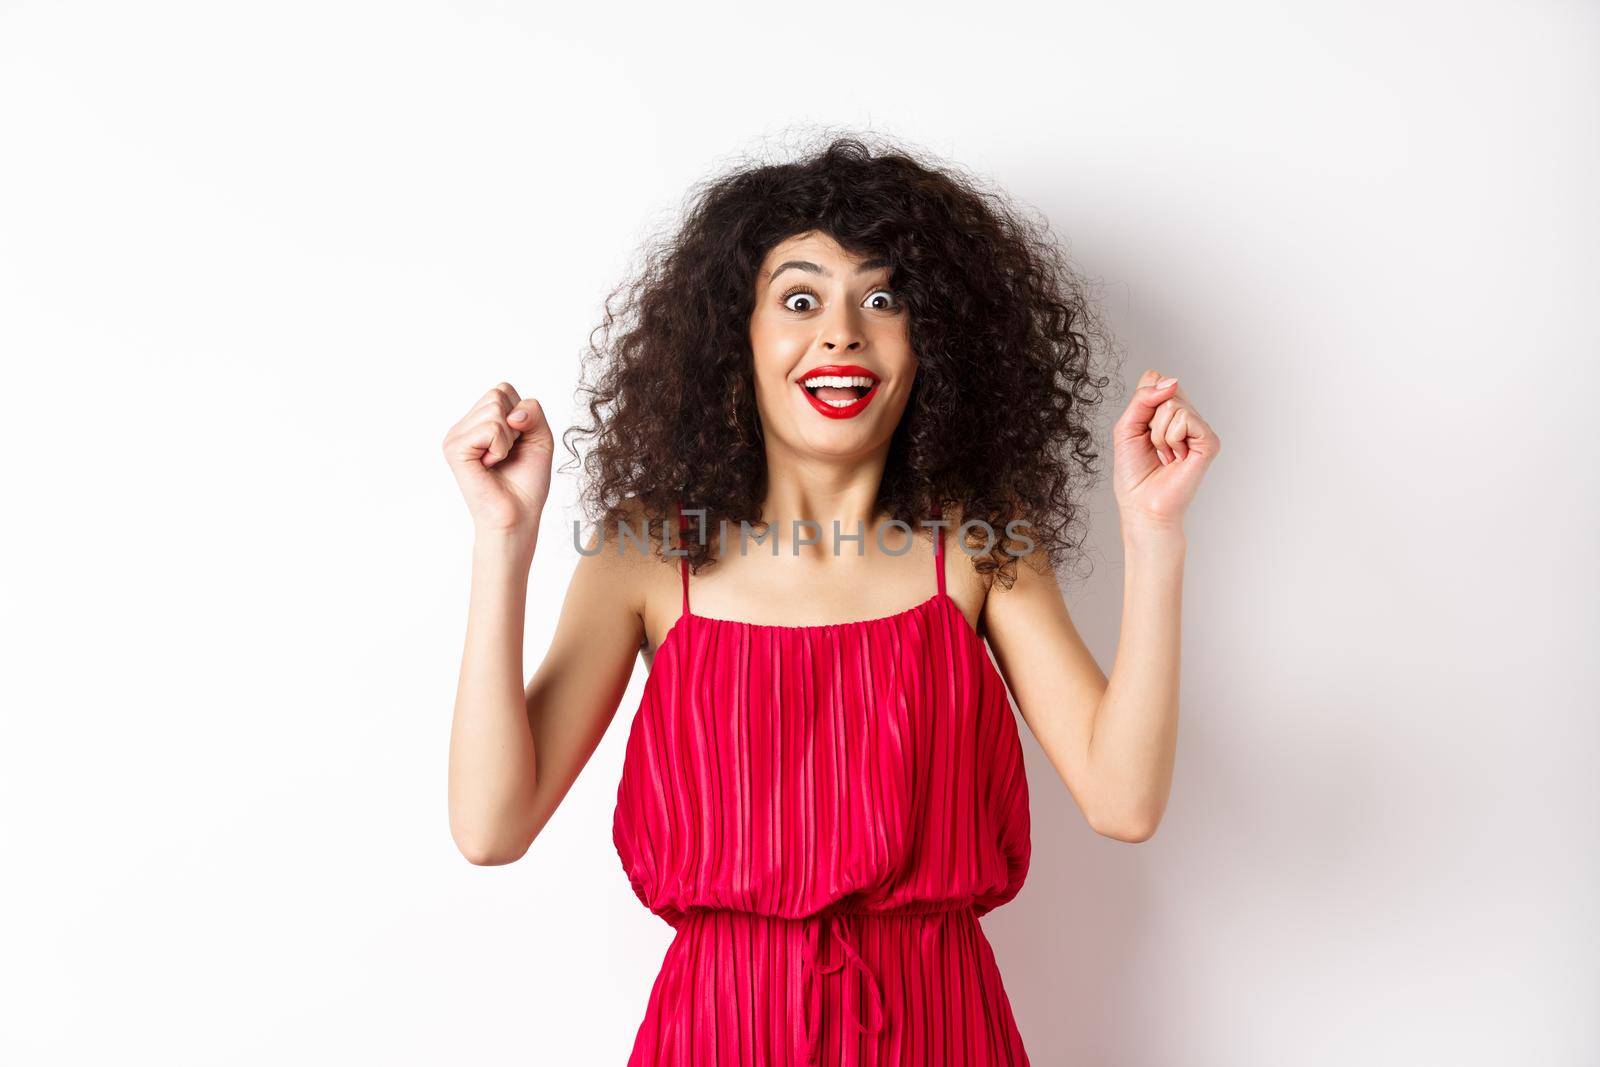
[[[606,302],[590,424],[571,430],[592,443],[598,530],[526,688],[554,435],[501,382],[445,440],[477,530],[458,846],[477,864],[528,849],[640,653],[613,840],[675,937],[629,1062],[1027,1064],[978,925],[1030,853],[1006,686],[1088,822],[1150,837],[1176,744],[1182,517],[1216,435],[1154,370],[1115,424],[1126,579],[1107,680],[1054,566],[1077,547],[1109,379],[1043,227],[840,139],[704,186],[629,296],[621,336]],[[648,541],[624,536],[646,523]]]

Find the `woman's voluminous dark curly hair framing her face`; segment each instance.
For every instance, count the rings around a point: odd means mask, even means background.
[[[1026,534],[1059,566],[1086,534],[1080,486],[1096,470],[1091,414],[1110,378],[1091,374],[1098,326],[1086,286],[1048,222],[998,192],[859,134],[798,162],[742,163],[696,186],[683,221],[648,243],[637,275],[605,301],[579,397],[592,438],[581,504],[603,530],[643,514],[654,531],[672,504],[758,530],[766,486],[749,323],[757,272],[787,237],[819,230],[854,256],[883,256],[909,314],[918,370],[890,443],[877,506],[910,525],[933,506],[997,534],[981,573],[1014,581]],[[618,304],[618,299],[621,304]],[[595,339],[598,334],[598,341]],[[582,406],[582,405],[581,405]],[[928,534],[931,536],[931,533]],[[979,528],[971,541],[986,541]],[[686,539],[694,569],[715,537]]]

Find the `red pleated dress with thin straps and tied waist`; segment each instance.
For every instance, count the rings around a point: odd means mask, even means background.
[[[629,1067],[1026,1065],[978,918],[1027,877],[1027,777],[942,528],[938,592],[858,622],[696,616],[680,566],[613,821],[675,929]]]

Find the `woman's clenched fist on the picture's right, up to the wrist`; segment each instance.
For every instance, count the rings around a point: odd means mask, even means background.
[[[1178,379],[1160,381],[1160,373],[1144,371],[1112,427],[1112,485],[1123,534],[1182,531],[1189,501],[1222,450]]]

